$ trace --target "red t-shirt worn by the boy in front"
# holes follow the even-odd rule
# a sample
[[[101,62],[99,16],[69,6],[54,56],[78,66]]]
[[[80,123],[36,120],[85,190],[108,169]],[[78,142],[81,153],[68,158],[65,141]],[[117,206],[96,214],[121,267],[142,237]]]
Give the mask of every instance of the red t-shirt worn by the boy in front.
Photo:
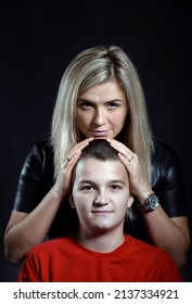
[[[18,274],[20,282],[178,282],[182,281],[172,258],[164,251],[125,236],[110,253],[59,238],[35,246]]]

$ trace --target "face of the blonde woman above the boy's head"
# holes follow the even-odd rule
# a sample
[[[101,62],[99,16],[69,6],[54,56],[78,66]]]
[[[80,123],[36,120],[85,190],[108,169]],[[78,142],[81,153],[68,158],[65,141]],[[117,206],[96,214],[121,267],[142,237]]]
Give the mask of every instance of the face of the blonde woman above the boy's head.
[[[77,125],[87,138],[115,138],[127,113],[126,94],[116,79],[92,87],[77,100]]]

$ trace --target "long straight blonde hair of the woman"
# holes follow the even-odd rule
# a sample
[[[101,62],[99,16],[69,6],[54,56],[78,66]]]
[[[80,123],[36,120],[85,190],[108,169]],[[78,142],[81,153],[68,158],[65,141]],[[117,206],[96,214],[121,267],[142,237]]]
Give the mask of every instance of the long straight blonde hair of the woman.
[[[76,124],[78,96],[91,87],[117,79],[125,90],[129,114],[121,130],[121,142],[138,154],[144,177],[151,183],[151,155],[154,149],[143,90],[128,55],[118,47],[93,47],[80,52],[65,69],[52,117],[51,143],[54,176],[61,162],[82,135]]]

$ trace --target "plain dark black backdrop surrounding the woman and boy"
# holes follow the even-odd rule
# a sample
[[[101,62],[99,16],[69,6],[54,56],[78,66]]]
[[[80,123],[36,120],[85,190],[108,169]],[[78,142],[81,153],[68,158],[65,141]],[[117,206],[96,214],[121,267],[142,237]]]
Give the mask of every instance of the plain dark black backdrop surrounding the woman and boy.
[[[31,145],[49,136],[65,67],[79,51],[95,45],[116,43],[133,61],[153,131],[180,159],[192,231],[190,2],[0,2],[0,281],[15,281],[20,269],[3,257],[3,232],[22,165]],[[190,251],[181,268],[184,281],[192,281],[191,269]]]

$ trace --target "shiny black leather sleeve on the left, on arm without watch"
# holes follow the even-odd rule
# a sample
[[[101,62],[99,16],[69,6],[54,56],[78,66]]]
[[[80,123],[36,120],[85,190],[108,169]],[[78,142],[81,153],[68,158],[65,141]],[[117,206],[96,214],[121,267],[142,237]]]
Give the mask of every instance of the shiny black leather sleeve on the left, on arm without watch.
[[[14,210],[29,213],[53,185],[53,156],[47,141],[36,143],[29,152],[17,185]]]

